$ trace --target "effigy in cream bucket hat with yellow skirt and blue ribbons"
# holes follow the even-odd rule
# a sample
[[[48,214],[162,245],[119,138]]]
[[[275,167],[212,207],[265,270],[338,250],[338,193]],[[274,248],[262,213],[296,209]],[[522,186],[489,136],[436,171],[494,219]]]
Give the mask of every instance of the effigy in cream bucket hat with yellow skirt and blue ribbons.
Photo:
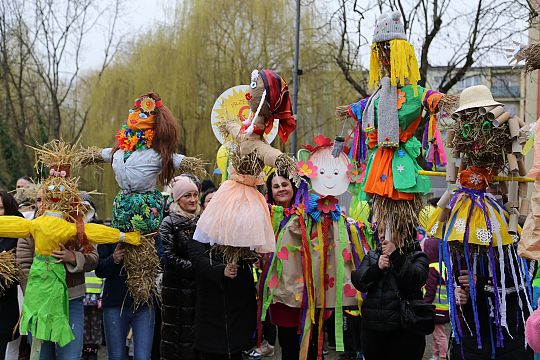
[[[523,183],[525,188],[518,196],[518,182],[508,182],[506,207],[489,189],[493,188],[493,178],[499,172],[507,173],[512,180],[512,177],[518,177],[519,168],[523,167],[518,165],[523,161],[521,147],[516,146],[516,142],[519,142],[519,121],[505,112],[502,104],[493,100],[490,90],[484,85],[463,90],[460,106],[452,117],[454,123],[449,130],[452,140],[448,145],[460,169],[458,188],[447,190],[441,197],[428,231],[431,236],[442,239],[440,258],[444,260],[449,274],[458,274],[466,268],[469,283],[474,284],[475,275],[480,271],[478,268],[487,261],[494,289],[489,315],[495,324],[493,338],[496,347],[503,347],[503,331],[508,331],[506,290],[509,286],[527,289],[530,282],[526,266],[516,254],[519,239],[518,200],[527,196],[526,183]],[[447,167],[447,180],[451,185],[456,180],[455,174],[455,165],[451,162]],[[453,334],[459,342],[462,332],[467,330],[459,324],[459,311],[454,299],[456,286],[455,279],[447,282]],[[525,291],[525,299],[519,297],[522,311],[525,307],[531,311],[529,295]],[[477,345],[481,348],[475,286],[470,287],[470,299]]]

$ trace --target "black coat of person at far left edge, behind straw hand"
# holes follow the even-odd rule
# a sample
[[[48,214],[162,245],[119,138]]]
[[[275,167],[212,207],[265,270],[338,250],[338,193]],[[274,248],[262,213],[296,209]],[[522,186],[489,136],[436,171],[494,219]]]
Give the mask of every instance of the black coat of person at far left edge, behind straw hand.
[[[17,248],[17,239],[0,238],[0,252]],[[19,321],[19,303],[17,301],[17,284],[10,286],[0,296],[0,335],[13,335],[13,329]],[[18,331],[15,332],[15,338]]]

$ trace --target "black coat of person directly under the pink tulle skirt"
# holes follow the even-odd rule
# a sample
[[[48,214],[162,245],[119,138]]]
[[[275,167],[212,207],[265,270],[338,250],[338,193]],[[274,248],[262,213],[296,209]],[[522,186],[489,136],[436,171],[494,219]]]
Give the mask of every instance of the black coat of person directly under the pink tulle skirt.
[[[257,301],[251,264],[240,261],[237,276],[225,277],[223,259],[210,257],[210,245],[192,240],[189,257],[197,281],[195,348],[230,355],[255,345]]]

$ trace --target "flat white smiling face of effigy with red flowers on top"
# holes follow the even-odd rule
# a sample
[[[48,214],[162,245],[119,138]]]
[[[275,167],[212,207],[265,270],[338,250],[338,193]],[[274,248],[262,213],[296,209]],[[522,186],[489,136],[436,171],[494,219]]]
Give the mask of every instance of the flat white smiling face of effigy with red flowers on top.
[[[316,176],[311,178],[313,191],[321,196],[338,196],[347,191],[349,158],[345,153],[335,158],[332,156],[332,147],[327,146],[315,151],[309,161],[317,167]]]

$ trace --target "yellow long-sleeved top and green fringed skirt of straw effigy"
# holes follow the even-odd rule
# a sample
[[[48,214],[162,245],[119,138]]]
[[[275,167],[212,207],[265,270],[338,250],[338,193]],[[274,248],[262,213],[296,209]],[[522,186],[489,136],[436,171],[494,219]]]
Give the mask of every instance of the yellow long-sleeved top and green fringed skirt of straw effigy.
[[[94,244],[126,242],[139,245],[139,233],[122,233],[104,225],[85,224],[88,241]],[[26,286],[21,318],[21,333],[65,346],[74,339],[69,325],[66,270],[52,257],[77,236],[77,225],[65,220],[61,212],[47,211],[43,216],[27,220],[18,216],[0,216],[0,237],[32,236],[35,255]]]

